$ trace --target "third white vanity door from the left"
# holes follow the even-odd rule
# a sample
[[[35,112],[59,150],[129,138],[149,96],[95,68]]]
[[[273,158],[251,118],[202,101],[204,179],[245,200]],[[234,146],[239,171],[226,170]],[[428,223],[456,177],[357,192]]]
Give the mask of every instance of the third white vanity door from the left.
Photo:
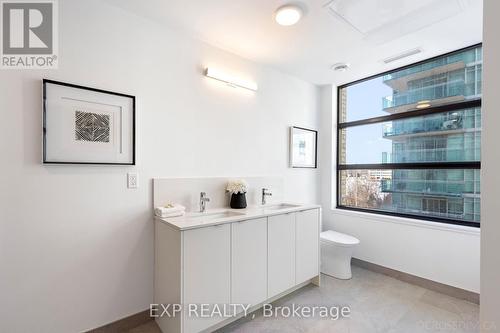
[[[268,232],[268,297],[295,285],[295,214],[270,216]]]

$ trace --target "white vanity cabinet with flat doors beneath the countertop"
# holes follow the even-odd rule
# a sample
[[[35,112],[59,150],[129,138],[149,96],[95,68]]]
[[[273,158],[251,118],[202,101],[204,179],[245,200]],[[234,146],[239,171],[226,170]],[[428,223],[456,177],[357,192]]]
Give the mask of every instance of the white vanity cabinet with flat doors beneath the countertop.
[[[183,309],[175,317],[156,318],[162,332],[210,332],[239,318],[238,313],[190,316],[190,304],[198,310],[201,304],[228,309],[245,304],[255,310],[310,282],[319,284],[321,214],[313,207],[269,214],[261,209],[245,219],[185,229],[157,218],[154,303]],[[162,309],[158,306],[156,314]]]

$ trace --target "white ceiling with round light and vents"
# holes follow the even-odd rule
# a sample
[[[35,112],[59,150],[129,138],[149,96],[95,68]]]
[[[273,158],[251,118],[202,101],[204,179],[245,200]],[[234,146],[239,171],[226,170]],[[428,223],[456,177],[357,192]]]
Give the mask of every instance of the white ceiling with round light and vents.
[[[347,83],[482,41],[482,0],[423,0],[420,7],[415,0],[105,1],[319,85]],[[279,26],[274,11],[290,2],[306,14],[294,26]],[[376,29],[370,34],[366,27]],[[423,52],[382,62],[415,48]],[[351,69],[332,71],[338,62]]]

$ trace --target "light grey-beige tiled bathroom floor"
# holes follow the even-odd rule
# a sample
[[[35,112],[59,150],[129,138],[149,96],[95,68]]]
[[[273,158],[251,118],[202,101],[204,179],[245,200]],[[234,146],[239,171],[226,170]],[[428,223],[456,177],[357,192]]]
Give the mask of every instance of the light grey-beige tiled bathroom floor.
[[[479,306],[399,280],[353,267],[343,281],[323,275],[321,287],[307,286],[279,300],[280,305],[349,306],[350,318],[240,319],[220,332],[419,333],[479,332]],[[160,333],[154,322],[130,333]]]

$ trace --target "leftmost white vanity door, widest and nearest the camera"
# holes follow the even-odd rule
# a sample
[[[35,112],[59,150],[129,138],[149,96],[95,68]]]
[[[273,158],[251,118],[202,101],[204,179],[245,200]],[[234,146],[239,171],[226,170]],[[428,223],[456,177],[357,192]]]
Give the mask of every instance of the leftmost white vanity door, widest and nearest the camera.
[[[183,303],[210,304],[222,308],[230,303],[231,229],[229,224],[183,232]],[[195,312],[193,312],[194,314]],[[224,320],[200,318],[184,311],[184,332],[199,332]]]

